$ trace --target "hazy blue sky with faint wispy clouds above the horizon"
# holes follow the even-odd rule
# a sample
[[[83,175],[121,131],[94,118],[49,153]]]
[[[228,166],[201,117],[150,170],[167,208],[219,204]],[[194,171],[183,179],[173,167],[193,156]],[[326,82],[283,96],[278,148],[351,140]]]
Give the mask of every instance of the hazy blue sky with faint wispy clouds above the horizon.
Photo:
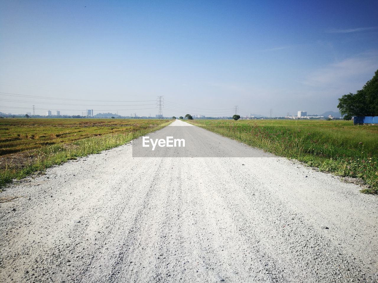
[[[322,114],[378,69],[371,0],[0,3],[2,112]]]

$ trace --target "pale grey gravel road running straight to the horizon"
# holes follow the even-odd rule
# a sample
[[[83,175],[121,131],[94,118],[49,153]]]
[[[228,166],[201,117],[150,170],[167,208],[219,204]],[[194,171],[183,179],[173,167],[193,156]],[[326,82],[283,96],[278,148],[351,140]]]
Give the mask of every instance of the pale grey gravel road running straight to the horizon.
[[[377,282],[375,195],[179,120],[167,137],[185,146],[141,137],[6,188],[0,281]]]

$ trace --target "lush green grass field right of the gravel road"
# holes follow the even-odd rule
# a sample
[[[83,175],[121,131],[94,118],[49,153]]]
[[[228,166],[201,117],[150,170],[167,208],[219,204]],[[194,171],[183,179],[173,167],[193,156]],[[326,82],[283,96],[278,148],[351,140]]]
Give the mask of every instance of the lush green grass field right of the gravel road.
[[[361,178],[378,193],[378,126],[344,120],[187,121],[247,145],[297,159],[335,175]]]

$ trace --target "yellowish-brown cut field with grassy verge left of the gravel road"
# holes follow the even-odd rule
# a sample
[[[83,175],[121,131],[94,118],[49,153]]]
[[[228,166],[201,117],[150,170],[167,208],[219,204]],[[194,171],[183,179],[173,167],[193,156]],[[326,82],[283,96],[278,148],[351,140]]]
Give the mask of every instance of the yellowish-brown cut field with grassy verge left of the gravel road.
[[[1,119],[0,189],[15,178],[123,145],[171,122],[157,119]]]

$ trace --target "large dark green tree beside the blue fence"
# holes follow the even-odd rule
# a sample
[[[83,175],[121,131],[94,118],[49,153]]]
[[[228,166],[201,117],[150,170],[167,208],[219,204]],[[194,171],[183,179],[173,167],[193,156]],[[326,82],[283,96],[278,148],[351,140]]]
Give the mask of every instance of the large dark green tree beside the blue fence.
[[[378,70],[362,89],[339,98],[337,107],[346,120],[352,116],[378,116]]]

